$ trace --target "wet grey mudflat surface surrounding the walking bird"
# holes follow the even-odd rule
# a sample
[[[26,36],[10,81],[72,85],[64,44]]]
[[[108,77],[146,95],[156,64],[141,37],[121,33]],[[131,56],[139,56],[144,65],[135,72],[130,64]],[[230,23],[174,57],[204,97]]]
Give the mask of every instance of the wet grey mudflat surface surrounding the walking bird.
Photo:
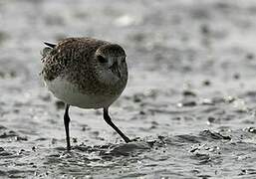
[[[39,77],[43,41],[121,44],[128,87],[102,110],[63,105]],[[256,2],[0,1],[0,178],[255,178]]]

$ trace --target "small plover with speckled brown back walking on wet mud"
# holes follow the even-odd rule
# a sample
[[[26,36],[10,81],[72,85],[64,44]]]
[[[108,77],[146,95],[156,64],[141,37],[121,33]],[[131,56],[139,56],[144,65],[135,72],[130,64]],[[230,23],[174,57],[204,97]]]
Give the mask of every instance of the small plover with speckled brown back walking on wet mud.
[[[67,38],[57,44],[44,43],[42,77],[49,90],[64,101],[67,149],[70,105],[103,108],[105,121],[126,142],[129,138],[112,122],[110,105],[121,95],[128,82],[126,52],[118,44],[92,38]]]

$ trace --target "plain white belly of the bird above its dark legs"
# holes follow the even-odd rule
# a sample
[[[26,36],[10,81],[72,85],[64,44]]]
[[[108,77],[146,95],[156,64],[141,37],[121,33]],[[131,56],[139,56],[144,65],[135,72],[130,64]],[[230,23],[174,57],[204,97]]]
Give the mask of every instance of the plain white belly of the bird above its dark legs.
[[[64,79],[45,81],[46,86],[62,101],[81,108],[102,108],[110,106],[119,96],[105,96],[81,93],[77,87]]]

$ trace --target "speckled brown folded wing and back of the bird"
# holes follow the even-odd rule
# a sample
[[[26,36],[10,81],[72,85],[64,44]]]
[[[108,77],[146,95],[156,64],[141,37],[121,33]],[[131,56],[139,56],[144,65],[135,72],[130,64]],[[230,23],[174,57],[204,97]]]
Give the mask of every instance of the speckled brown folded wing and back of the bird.
[[[86,65],[99,47],[108,44],[92,38],[67,38],[57,45],[45,43],[42,74],[47,80],[54,80],[69,68]],[[49,48],[50,47],[50,48]],[[51,49],[52,48],[52,49]],[[43,51],[44,51],[43,50]]]

